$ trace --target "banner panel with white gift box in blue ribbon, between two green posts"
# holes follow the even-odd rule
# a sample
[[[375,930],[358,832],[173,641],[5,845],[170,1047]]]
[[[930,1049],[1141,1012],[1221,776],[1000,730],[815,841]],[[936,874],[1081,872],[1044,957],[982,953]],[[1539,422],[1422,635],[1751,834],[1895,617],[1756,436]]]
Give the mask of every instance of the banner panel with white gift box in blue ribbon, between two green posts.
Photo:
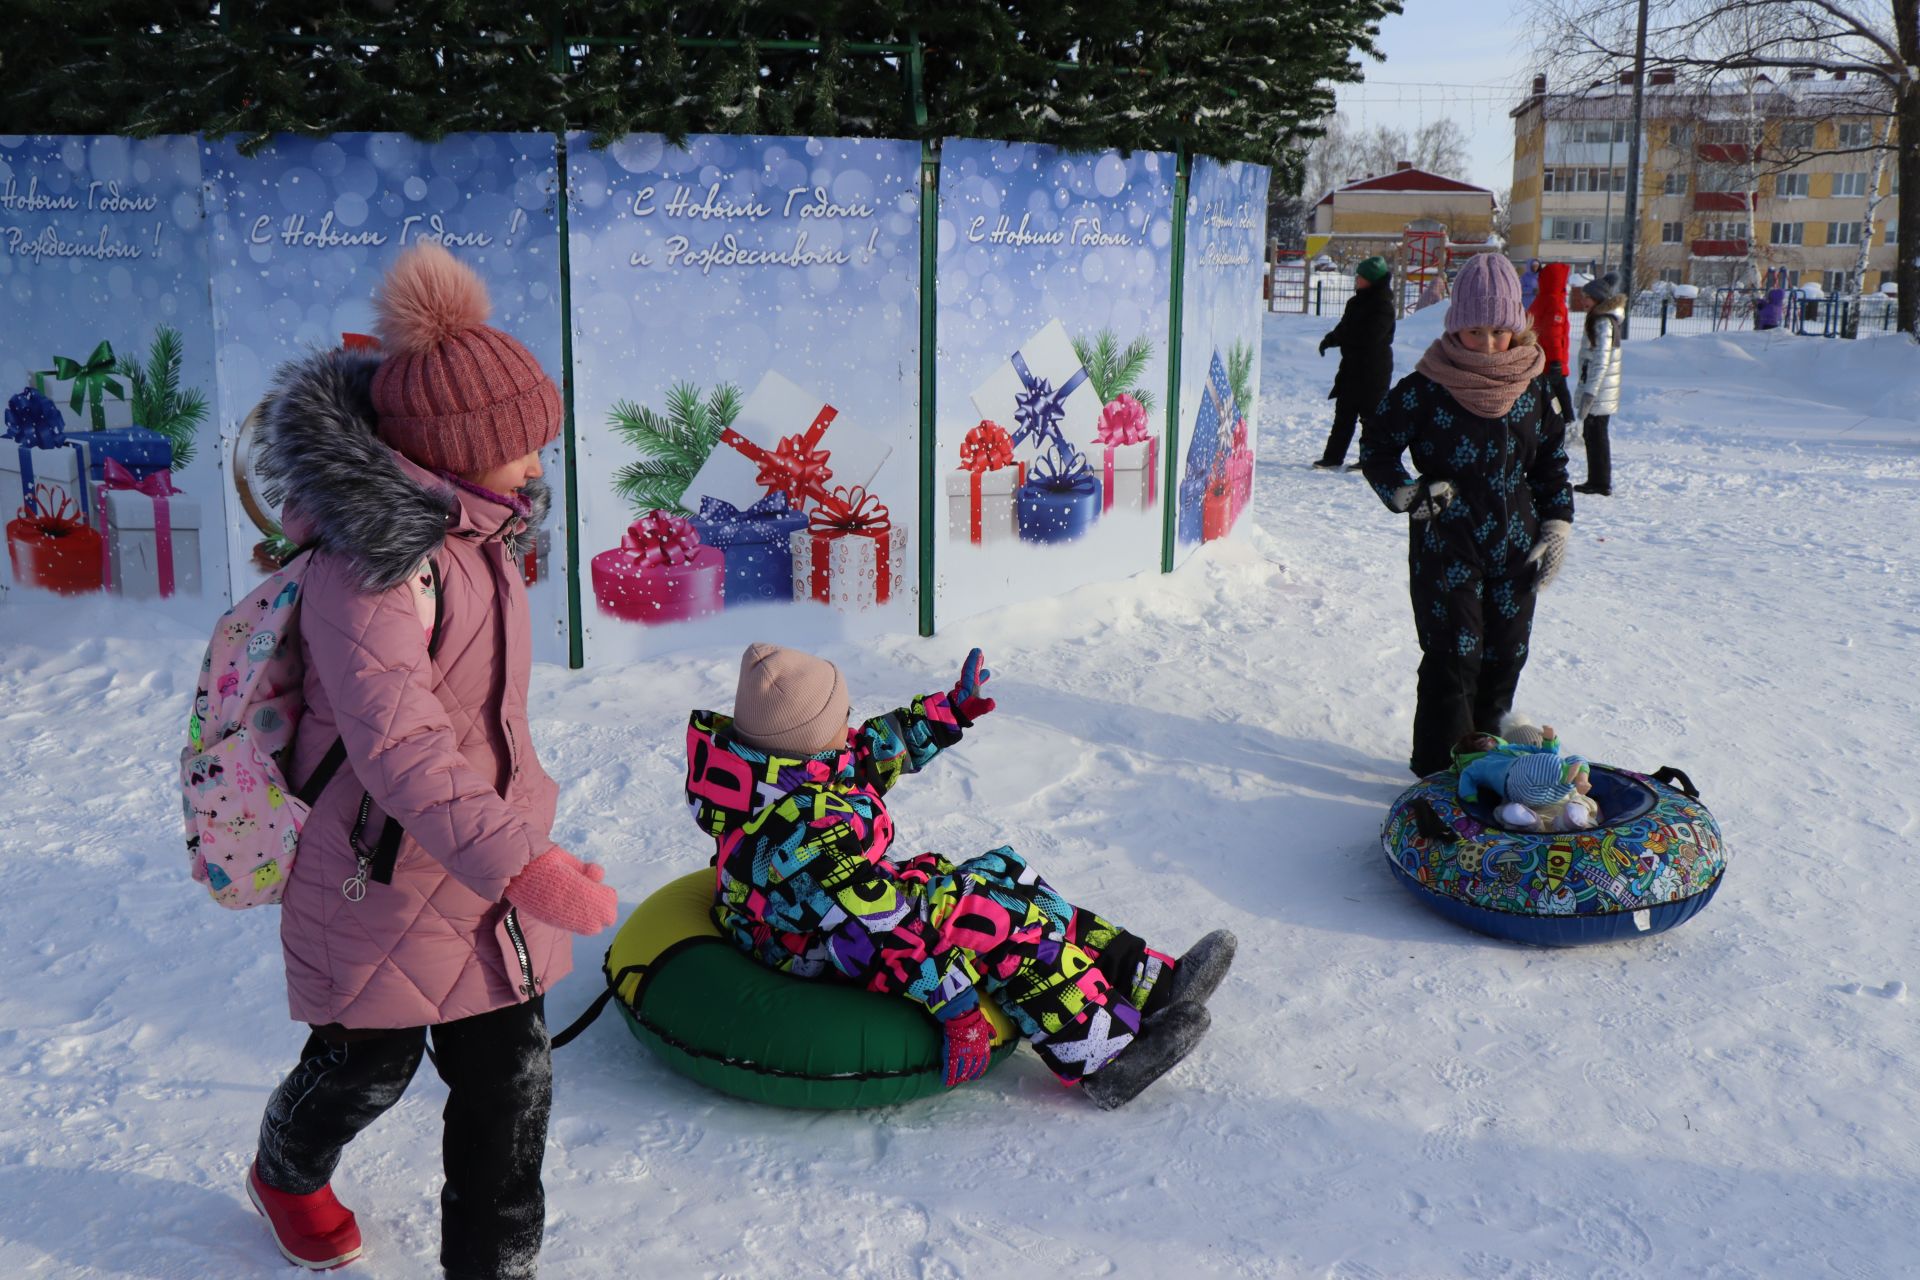
[[[1158,568],[1173,169],[943,146],[941,620]]]

